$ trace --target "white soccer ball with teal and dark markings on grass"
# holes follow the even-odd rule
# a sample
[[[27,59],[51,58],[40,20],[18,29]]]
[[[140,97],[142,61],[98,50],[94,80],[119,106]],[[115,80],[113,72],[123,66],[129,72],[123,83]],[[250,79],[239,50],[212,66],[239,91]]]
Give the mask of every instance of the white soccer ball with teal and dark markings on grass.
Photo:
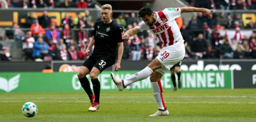
[[[33,102],[26,102],[22,106],[22,113],[26,117],[36,116],[37,111],[38,111],[38,108],[37,108],[36,104],[34,104]]]

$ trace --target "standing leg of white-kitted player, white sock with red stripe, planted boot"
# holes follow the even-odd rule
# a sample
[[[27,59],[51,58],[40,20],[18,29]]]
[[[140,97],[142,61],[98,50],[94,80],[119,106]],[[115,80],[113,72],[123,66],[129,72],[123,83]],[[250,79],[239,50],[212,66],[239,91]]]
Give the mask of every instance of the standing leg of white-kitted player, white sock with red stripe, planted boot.
[[[156,104],[158,106],[158,111],[150,116],[164,116],[168,115],[169,112],[167,110],[167,107],[164,104],[164,99],[163,99],[163,89],[161,85],[160,79],[162,78],[162,74],[159,73],[158,71],[154,71],[152,75],[150,75],[150,81],[152,85],[152,90],[154,93],[154,97],[156,99]]]

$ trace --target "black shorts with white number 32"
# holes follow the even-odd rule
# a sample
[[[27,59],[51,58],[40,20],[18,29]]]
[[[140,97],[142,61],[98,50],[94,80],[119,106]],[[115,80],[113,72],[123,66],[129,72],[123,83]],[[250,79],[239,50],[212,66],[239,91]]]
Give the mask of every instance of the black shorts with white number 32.
[[[115,64],[116,59],[110,58],[110,57],[94,57],[90,56],[86,61],[84,61],[83,65],[84,67],[87,67],[89,71],[92,70],[92,67],[96,67],[98,70],[100,70],[100,73]]]

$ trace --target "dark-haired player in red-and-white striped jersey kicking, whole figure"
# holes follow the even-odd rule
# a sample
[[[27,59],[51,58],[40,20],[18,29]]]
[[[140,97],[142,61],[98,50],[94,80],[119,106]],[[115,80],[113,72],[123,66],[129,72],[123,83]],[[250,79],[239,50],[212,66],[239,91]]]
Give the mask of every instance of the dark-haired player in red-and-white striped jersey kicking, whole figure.
[[[164,104],[160,79],[173,65],[184,58],[184,40],[175,19],[181,13],[187,12],[202,12],[204,16],[212,17],[212,10],[205,8],[165,8],[162,11],[153,12],[150,7],[143,7],[139,11],[139,17],[143,21],[135,28],[126,31],[123,35],[124,40],[128,40],[130,36],[140,31],[149,30],[163,42],[163,48],[160,50],[159,55],[142,71],[134,73],[123,80],[116,77],[114,73],[111,73],[112,79],[119,91],[124,90],[125,87],[134,82],[141,81],[150,76],[152,90],[158,106],[158,111],[150,116],[169,114]]]

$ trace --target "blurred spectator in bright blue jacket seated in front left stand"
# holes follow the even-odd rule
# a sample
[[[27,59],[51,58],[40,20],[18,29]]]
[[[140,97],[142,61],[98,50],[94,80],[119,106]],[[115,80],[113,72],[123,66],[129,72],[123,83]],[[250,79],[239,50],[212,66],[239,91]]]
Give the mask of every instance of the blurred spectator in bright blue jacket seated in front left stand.
[[[35,59],[44,59],[44,56],[48,56],[48,49],[49,46],[47,43],[42,38],[38,38],[38,41],[34,43],[32,57]]]

